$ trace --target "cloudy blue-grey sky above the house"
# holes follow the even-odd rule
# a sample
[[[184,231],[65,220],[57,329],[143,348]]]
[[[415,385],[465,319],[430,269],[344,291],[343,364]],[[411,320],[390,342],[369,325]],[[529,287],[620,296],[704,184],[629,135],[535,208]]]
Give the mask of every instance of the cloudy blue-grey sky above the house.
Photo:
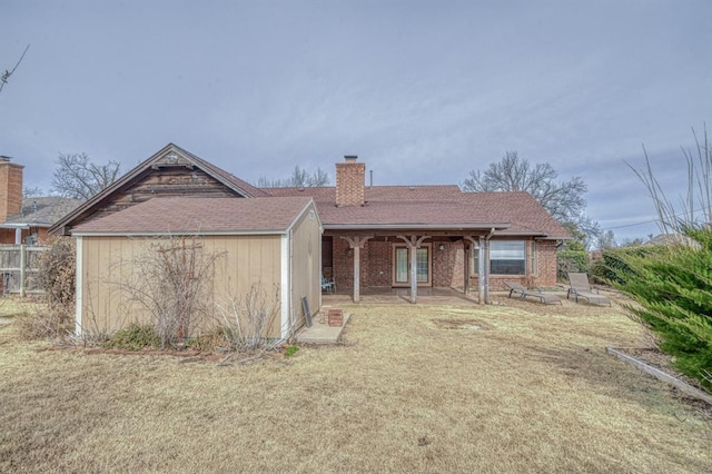
[[[712,120],[712,1],[0,0],[0,155],[122,170],[168,142],[256,184],[357,155],[375,185],[462,184],[506,151],[583,178],[619,241],[657,234]],[[710,124],[712,128],[712,124]],[[712,132],[712,130],[711,130]],[[367,171],[368,172],[368,171]]]

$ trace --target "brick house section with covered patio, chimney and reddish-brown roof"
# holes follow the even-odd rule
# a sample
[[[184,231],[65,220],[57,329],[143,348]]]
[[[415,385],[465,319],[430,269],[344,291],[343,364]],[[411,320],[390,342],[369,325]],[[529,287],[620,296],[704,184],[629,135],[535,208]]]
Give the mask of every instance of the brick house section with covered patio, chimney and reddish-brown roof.
[[[567,231],[527,192],[463,192],[458,186],[366,186],[365,164],[336,164],[336,186],[271,188],[312,196],[324,225],[323,267],[337,288],[477,288],[504,280],[556,284],[556,246]]]

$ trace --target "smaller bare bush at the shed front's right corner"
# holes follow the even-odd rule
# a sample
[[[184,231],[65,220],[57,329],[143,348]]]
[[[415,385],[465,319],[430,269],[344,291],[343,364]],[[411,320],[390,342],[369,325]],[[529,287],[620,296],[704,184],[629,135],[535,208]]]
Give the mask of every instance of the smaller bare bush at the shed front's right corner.
[[[278,285],[268,292],[261,284],[255,284],[245,295],[230,295],[225,304],[217,307],[225,323],[226,339],[236,353],[259,355],[276,349],[283,343],[279,337],[268,337],[279,315]]]

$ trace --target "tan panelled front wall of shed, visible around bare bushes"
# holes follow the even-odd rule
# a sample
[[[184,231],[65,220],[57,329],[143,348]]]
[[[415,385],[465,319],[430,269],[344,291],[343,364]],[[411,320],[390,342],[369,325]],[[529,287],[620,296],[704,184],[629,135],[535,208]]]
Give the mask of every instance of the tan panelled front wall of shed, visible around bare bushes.
[[[253,284],[268,293],[281,284],[280,235],[205,236],[201,241],[206,253],[222,254],[215,266],[212,303],[224,304],[230,295],[240,297]],[[82,330],[110,333],[130,323],[149,322],[149,316],[121,289],[132,271],[131,261],[144,245],[145,239],[121,236],[81,238]],[[216,310],[210,319],[217,325],[221,318]],[[270,336],[279,335],[279,326],[277,316]]]

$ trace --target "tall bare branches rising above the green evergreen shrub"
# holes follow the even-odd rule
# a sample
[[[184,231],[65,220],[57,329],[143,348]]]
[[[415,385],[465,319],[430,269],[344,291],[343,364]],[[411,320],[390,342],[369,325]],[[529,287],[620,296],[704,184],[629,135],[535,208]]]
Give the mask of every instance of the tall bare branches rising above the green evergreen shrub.
[[[625,162],[640,178],[653,199],[657,211],[657,226],[662,234],[678,235],[682,234],[686,227],[712,225],[712,145],[708,139],[706,124],[703,126],[702,138],[698,137],[694,128],[692,136],[695,144],[694,150],[682,147],[682,156],[688,169],[688,189],[683,196],[680,196],[678,205],[670,200],[657,180],[645,146],[643,146],[644,168],[636,169],[630,162]],[[670,166],[671,162],[666,161],[665,165]]]

